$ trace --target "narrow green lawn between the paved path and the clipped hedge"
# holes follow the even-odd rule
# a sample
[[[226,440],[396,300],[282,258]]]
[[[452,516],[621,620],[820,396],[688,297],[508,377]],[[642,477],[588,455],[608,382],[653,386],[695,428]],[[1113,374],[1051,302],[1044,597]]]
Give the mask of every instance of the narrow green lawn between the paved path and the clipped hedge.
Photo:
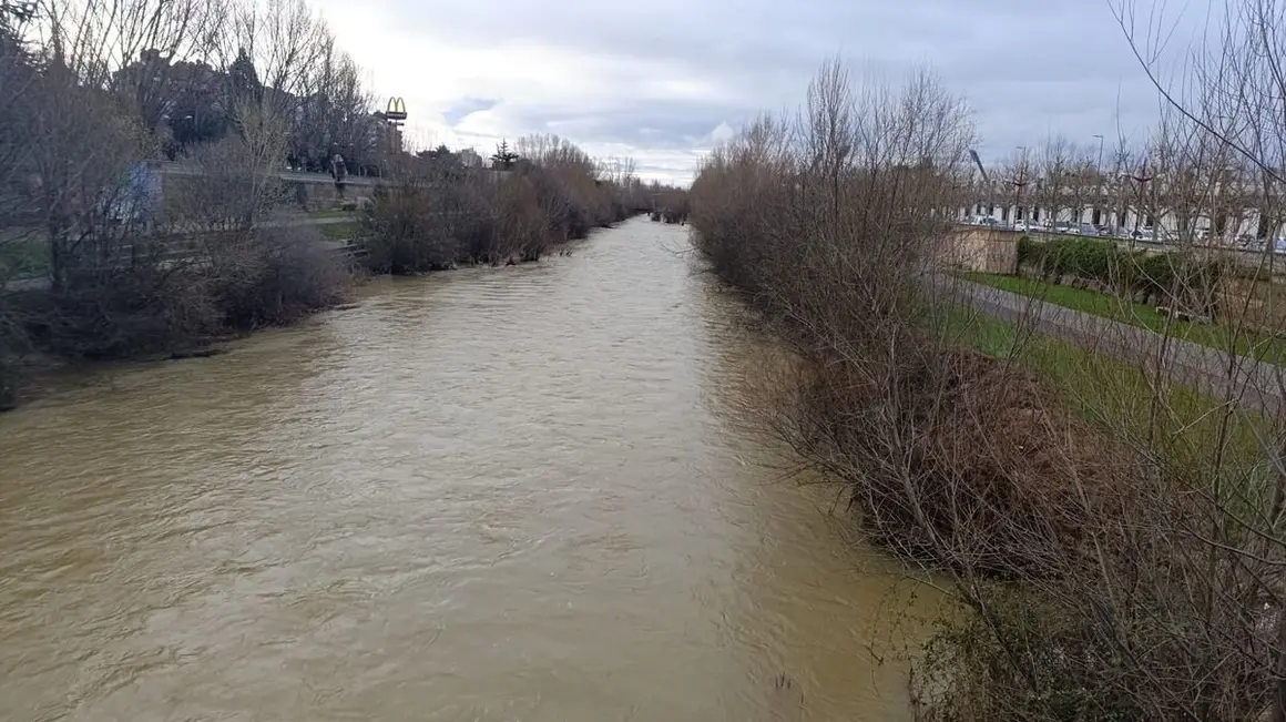
[[[1237,354],[1273,364],[1286,364],[1286,340],[1268,335],[1251,335],[1245,331],[1233,333],[1231,328],[1218,324],[1187,323],[1172,320],[1154,306],[1134,304],[1125,299],[1100,293],[1088,288],[1073,288],[1057,283],[1047,283],[1034,278],[1002,275],[993,273],[967,273],[963,277],[975,283],[1040,299],[1048,304],[1066,306],[1078,311],[1110,318],[1147,328],[1157,333],[1168,333],[1175,338],[1201,344],[1211,349],[1235,350]]]

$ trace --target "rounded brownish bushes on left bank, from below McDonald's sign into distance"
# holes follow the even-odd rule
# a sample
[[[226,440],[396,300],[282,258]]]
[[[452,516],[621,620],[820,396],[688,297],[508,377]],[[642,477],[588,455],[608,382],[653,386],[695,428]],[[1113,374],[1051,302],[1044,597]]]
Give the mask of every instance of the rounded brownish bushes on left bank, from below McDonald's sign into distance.
[[[495,170],[462,166],[449,153],[400,165],[363,216],[368,268],[412,274],[534,261],[649,207],[631,161],[598,162],[556,135],[522,138],[514,151],[504,144],[494,158]]]

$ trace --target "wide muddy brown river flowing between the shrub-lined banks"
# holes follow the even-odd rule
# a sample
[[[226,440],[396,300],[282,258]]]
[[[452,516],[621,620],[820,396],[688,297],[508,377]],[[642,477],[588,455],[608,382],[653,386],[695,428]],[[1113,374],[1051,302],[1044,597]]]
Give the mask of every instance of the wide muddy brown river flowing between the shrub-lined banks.
[[[763,341],[685,247],[379,281],[0,417],[0,719],[795,718],[778,674],[907,718],[868,650],[932,605],[760,463]]]

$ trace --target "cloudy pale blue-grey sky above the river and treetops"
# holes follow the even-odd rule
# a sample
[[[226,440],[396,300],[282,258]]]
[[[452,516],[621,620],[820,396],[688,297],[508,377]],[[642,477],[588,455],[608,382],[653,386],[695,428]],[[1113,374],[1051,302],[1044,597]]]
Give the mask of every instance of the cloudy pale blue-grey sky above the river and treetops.
[[[760,111],[796,107],[818,64],[930,64],[976,113],[985,160],[1049,134],[1137,134],[1156,93],[1107,0],[314,0],[408,140],[477,147],[556,133],[687,183]]]

